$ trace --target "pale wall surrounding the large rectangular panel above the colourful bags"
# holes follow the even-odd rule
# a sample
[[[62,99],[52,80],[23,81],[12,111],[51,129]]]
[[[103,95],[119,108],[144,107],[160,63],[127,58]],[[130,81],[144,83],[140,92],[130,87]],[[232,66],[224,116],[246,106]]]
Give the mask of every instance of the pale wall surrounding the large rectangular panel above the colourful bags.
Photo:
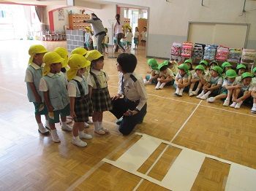
[[[256,49],[256,1],[246,1],[246,16],[242,15],[244,0],[108,0],[114,4],[149,8],[147,56],[169,58],[173,42],[187,40],[188,23],[249,23],[247,48]],[[248,12],[247,12],[248,10]],[[242,15],[242,16],[241,16]]]

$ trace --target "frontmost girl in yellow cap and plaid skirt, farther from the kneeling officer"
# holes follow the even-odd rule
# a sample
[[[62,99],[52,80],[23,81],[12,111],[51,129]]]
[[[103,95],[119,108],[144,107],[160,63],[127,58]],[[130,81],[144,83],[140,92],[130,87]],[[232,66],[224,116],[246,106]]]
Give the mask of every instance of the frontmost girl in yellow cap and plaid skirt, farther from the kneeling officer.
[[[86,72],[86,66],[91,63],[86,61],[83,55],[73,54],[70,56],[68,65],[70,67],[67,71],[67,79],[69,84],[67,90],[70,100],[70,114],[75,120],[73,126],[73,140],[72,144],[78,147],[86,147],[86,142],[80,139],[91,139],[92,136],[83,132],[83,126],[92,115],[92,103],[89,98],[89,87],[86,77],[83,74]]]

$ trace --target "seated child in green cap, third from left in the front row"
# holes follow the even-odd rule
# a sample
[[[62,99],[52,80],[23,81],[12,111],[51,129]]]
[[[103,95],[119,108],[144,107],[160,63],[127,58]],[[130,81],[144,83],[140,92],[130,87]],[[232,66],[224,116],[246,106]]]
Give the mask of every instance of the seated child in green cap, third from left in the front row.
[[[186,63],[181,63],[181,65],[178,66],[178,74],[175,77],[175,82],[173,85],[176,88],[174,95],[181,97],[184,89],[188,89],[189,85],[189,66],[187,66]]]

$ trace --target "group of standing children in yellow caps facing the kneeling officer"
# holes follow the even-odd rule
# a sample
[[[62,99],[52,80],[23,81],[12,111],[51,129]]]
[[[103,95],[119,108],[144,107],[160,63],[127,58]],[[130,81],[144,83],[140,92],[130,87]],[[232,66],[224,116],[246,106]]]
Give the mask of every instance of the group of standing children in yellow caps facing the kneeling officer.
[[[34,104],[39,133],[43,135],[51,133],[53,141],[59,142],[60,139],[55,127],[55,123],[59,122],[59,115],[61,116],[61,129],[73,132],[72,144],[78,147],[86,147],[87,145],[80,139],[92,138],[91,135],[83,132],[89,116],[93,117],[96,133],[101,135],[108,133],[108,129],[102,127],[102,112],[97,112],[99,109],[99,107],[95,108],[97,103],[92,98],[94,102],[91,104],[91,98],[89,98],[91,92],[94,93],[95,83],[97,84],[97,77],[94,78],[92,70],[94,69],[100,75],[105,76],[105,74],[101,74],[104,60],[102,54],[97,50],[87,52],[80,47],[73,50],[72,56],[68,58],[67,50],[63,47],[48,52],[45,47],[36,44],[29,48],[29,55],[31,57],[26,69],[25,82],[29,101]],[[88,77],[90,80],[87,82],[84,74],[86,74],[86,67],[90,64],[91,72]],[[107,79],[104,78],[104,80]],[[106,84],[106,82],[104,83]],[[107,97],[110,98],[109,95]],[[97,98],[100,99],[99,96]],[[108,108],[105,109],[109,110],[111,106],[108,104]],[[94,112],[92,113],[92,111]],[[69,114],[75,120],[73,128],[67,125],[66,120]],[[45,115],[45,127],[42,125],[41,115]]]

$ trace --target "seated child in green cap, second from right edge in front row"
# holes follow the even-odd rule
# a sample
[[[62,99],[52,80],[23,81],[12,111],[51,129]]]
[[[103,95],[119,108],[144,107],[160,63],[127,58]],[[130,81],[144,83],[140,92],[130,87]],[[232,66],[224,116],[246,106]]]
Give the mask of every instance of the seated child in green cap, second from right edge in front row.
[[[252,82],[251,73],[245,72],[244,74],[241,75],[241,80],[238,81],[238,84],[241,85],[241,88],[233,90],[233,95],[232,95],[233,104],[231,104],[230,107],[239,109],[241,104],[243,104],[243,101],[245,101],[246,98],[249,98],[251,96],[251,92],[249,91],[251,82]]]

